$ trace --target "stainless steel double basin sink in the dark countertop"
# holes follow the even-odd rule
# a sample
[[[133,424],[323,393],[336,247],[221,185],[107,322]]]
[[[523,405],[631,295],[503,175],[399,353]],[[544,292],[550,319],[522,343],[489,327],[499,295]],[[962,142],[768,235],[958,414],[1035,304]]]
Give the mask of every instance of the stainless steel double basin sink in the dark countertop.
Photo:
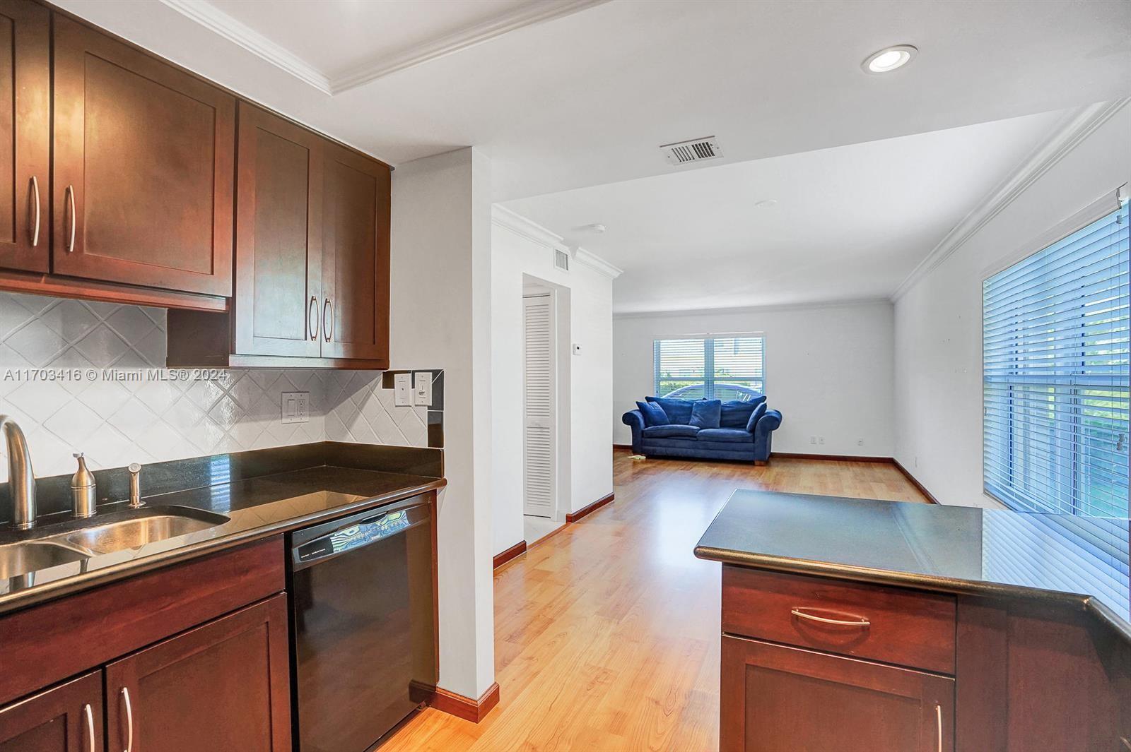
[[[228,517],[202,509],[157,506],[49,525],[32,532],[32,537],[0,544],[0,579],[136,549],[226,522]]]

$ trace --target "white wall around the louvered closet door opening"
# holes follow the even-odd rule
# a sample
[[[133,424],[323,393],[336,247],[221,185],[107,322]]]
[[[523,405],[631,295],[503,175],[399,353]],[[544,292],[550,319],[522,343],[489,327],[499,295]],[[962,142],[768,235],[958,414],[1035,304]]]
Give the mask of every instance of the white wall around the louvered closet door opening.
[[[559,365],[568,388],[559,395],[566,452],[559,463],[560,517],[613,492],[608,445],[612,379],[612,278],[573,259],[553,265],[561,238],[497,208],[492,235],[492,504],[493,548],[523,540],[523,285],[535,278],[558,290]],[[571,355],[571,343],[581,346]],[[561,370],[559,371],[561,373]]]

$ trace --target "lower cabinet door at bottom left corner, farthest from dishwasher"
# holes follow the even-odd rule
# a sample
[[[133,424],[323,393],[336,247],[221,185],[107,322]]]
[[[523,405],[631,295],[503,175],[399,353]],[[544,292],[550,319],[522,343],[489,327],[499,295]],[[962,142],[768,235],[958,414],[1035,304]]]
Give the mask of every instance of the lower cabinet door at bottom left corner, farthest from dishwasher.
[[[0,708],[0,752],[97,752],[102,740],[101,671]]]

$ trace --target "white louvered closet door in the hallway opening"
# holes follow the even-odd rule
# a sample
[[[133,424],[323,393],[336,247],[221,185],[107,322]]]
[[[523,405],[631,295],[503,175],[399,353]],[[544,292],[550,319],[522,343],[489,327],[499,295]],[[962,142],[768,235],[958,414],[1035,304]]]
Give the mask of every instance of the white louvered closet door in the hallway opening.
[[[524,514],[553,517],[556,385],[554,383],[553,299],[523,298],[526,366],[523,373]]]

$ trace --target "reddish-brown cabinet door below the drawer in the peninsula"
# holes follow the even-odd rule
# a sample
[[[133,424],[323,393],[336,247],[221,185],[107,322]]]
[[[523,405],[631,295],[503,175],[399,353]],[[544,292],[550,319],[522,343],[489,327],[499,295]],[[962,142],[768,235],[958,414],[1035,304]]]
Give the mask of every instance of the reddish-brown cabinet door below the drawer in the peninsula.
[[[946,676],[723,637],[724,752],[951,752],[953,707]]]

